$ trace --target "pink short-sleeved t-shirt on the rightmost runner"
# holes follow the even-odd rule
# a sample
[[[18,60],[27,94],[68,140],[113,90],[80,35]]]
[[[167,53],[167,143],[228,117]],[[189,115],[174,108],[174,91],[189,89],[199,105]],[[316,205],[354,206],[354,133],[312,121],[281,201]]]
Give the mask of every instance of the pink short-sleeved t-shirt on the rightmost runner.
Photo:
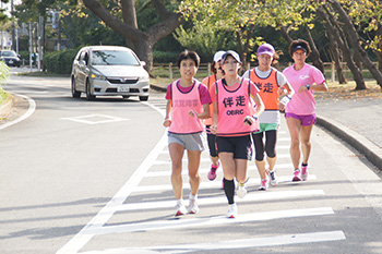
[[[291,87],[295,89],[295,95],[285,108],[285,112],[306,116],[315,113],[315,100],[313,90],[305,90],[298,93],[300,86],[322,84],[325,81],[322,72],[315,66],[305,63],[299,71],[295,70],[295,64],[286,68],[283,71]]]

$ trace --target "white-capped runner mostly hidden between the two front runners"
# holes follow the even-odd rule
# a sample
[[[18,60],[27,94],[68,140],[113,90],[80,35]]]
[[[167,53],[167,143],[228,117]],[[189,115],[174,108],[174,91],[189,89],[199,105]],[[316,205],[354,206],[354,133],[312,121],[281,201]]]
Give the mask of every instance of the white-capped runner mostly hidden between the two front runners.
[[[219,50],[214,55],[214,62],[211,65],[211,72],[213,75],[205,77],[202,83],[208,88],[212,84],[214,84],[216,81],[223,78],[224,71],[222,69],[222,57],[225,55],[226,51]],[[214,111],[214,105],[210,105],[210,114],[212,116]],[[216,179],[216,170],[219,167],[219,157],[217,156],[216,150],[216,135],[211,133],[210,126],[213,124],[212,117],[204,120],[205,124],[205,131],[207,133],[207,143],[208,143],[208,149],[210,149],[210,158],[211,158],[211,169],[207,174],[207,178],[210,181],[214,181]]]

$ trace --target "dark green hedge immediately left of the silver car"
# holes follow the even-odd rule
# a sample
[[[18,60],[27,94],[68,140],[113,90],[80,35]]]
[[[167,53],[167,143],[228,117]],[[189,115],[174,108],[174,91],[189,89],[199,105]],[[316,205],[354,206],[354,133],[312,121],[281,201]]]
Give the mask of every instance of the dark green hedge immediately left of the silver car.
[[[48,72],[58,74],[70,74],[72,71],[73,60],[77,53],[77,49],[64,49],[47,53],[44,58],[44,66]]]

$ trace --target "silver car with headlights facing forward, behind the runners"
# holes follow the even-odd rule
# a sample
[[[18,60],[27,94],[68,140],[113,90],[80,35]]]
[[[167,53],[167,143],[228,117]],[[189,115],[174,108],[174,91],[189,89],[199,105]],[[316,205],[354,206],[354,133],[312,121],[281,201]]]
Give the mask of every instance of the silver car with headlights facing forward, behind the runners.
[[[129,48],[120,46],[88,46],[80,49],[72,66],[72,96],[139,96],[146,101],[150,77],[145,63]]]

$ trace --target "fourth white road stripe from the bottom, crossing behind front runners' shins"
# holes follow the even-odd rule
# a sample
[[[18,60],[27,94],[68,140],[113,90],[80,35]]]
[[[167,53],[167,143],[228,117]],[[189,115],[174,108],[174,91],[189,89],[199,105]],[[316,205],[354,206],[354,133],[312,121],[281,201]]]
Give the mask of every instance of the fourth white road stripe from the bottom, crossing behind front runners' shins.
[[[298,182],[291,181],[291,176],[287,177],[277,177],[278,185],[283,184],[299,184]],[[309,174],[309,181],[317,180],[315,174]],[[303,182],[300,182],[303,183]],[[259,184],[260,185],[260,178],[250,178],[248,180],[247,186],[251,188],[252,184]],[[208,181],[208,182],[201,182],[199,190],[205,190],[205,189],[217,189],[222,188],[222,181],[215,180],[215,181]],[[183,182],[183,190],[190,190],[190,183],[184,180]],[[134,189],[134,193],[136,192],[158,192],[158,191],[172,191],[171,184],[163,184],[163,185],[139,185]]]

